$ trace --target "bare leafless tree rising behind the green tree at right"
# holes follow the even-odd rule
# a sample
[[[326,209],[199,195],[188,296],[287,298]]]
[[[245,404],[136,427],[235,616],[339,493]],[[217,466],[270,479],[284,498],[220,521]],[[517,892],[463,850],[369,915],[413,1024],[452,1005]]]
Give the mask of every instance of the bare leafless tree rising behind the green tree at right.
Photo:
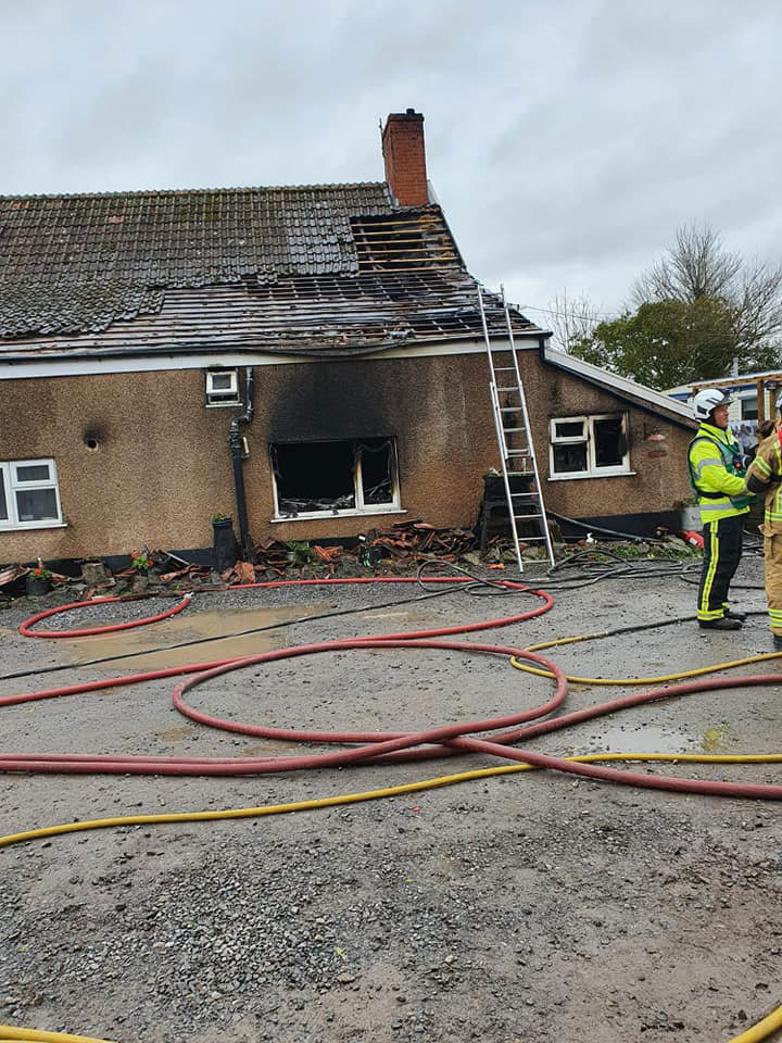
[[[741,253],[727,250],[708,226],[680,227],[676,243],[636,280],[632,298],[636,306],[658,301],[722,302],[732,316],[741,369],[780,365],[782,265],[745,262]]]

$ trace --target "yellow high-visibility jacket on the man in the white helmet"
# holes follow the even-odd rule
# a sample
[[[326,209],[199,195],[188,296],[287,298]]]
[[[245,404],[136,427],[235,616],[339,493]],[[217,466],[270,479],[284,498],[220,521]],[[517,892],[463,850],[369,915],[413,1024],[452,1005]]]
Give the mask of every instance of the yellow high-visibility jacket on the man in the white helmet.
[[[741,447],[730,431],[702,424],[690,443],[690,481],[697,495],[701,524],[748,514],[744,472],[740,466]]]

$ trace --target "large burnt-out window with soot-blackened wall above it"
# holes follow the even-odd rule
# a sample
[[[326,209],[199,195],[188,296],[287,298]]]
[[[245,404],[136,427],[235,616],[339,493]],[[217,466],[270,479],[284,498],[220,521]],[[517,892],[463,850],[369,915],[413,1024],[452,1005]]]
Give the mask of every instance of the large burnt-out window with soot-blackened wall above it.
[[[393,438],[272,445],[278,520],[399,511]]]

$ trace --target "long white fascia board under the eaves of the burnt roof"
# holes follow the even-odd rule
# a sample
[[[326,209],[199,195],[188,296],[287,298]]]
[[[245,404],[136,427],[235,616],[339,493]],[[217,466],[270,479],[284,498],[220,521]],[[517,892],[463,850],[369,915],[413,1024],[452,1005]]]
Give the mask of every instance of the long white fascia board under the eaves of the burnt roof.
[[[529,334],[516,334],[516,348],[519,350],[538,349],[541,337],[547,335],[535,330]],[[505,338],[492,338],[492,340]],[[283,355],[263,351],[242,352],[203,352],[187,354],[117,354],[74,357],[30,354],[28,357],[3,359],[0,353],[0,380],[27,380],[31,377],[77,377],[111,373],[159,373],[167,369],[209,369],[219,366],[224,369],[242,366],[290,366],[302,363],[325,362],[364,362],[382,359],[427,359],[438,355],[469,355],[485,353],[483,340],[444,340],[421,343],[409,348],[389,348],[367,354],[351,354],[344,357],[330,355]]]

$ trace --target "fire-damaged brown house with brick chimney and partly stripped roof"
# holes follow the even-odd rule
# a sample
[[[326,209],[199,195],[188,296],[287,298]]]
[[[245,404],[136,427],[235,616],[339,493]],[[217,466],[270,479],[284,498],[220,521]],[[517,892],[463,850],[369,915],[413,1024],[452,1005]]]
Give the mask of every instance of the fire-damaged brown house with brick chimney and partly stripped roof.
[[[374,184],[0,197],[0,562],[203,548],[216,514],[256,542],[476,524],[478,284],[424,117],[390,115],[382,151]],[[510,316],[546,506],[670,524],[686,409]]]

